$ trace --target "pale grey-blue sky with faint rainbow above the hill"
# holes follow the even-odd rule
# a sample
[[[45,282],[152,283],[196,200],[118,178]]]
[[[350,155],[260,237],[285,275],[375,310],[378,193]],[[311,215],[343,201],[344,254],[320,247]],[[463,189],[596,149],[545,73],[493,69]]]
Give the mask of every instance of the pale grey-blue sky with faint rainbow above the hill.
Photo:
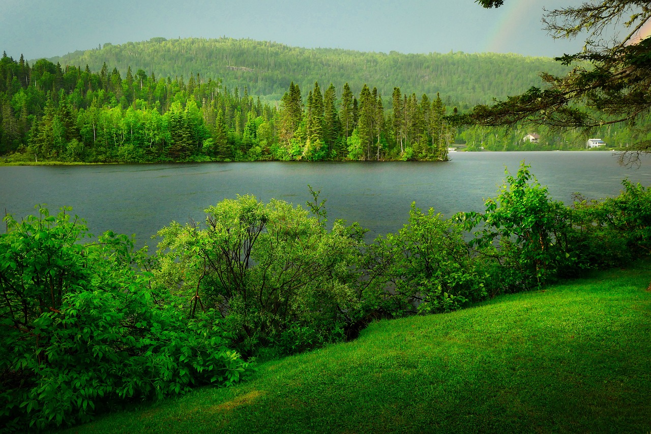
[[[305,48],[555,57],[583,40],[553,40],[543,7],[575,0],[0,0],[0,50],[40,59],[100,44],[165,38],[251,38]]]

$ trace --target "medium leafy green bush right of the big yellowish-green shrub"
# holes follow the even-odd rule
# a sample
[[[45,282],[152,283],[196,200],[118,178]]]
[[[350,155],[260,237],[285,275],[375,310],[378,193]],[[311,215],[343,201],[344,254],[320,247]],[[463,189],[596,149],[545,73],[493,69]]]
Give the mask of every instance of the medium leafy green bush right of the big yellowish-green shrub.
[[[412,203],[409,222],[396,235],[376,239],[369,254],[381,285],[383,310],[394,315],[456,310],[486,297],[480,273],[452,220]]]

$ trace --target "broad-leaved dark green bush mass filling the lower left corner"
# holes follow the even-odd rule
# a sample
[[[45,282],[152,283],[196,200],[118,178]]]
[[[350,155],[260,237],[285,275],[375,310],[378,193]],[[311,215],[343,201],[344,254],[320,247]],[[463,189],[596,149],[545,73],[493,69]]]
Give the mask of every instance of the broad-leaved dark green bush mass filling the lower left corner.
[[[208,318],[187,321],[139,272],[124,235],[48,210],[0,235],[0,423],[24,431],[88,420],[99,403],[236,383],[250,371]]]

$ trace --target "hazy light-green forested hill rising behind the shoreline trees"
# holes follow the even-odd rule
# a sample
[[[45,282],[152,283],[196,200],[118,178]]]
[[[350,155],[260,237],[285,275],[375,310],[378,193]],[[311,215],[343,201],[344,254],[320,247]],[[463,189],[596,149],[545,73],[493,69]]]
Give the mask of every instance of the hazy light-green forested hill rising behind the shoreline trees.
[[[186,80],[200,74],[223,80],[229,89],[247,86],[249,94],[264,100],[280,100],[292,81],[301,89],[310,89],[315,81],[326,87],[333,83],[338,89],[348,82],[353,93],[359,93],[365,83],[374,83],[385,96],[391,95],[394,86],[417,95],[439,92],[448,105],[460,108],[526,91],[540,83],[541,71],[566,72],[566,67],[545,57],[367,53],[232,38],[152,38],[147,42],[104,44],[101,49],[50,60],[81,68],[89,65],[90,70],[100,70],[104,63],[122,71],[131,66],[134,72],[143,69],[159,77],[184,76]]]

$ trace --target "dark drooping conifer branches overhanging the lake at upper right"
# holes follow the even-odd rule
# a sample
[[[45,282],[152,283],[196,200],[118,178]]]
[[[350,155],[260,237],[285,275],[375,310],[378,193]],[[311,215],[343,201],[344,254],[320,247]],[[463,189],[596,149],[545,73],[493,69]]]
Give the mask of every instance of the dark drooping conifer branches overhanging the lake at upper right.
[[[476,1],[484,8],[504,3]],[[644,121],[651,109],[651,38],[640,35],[650,19],[651,5],[638,0],[591,0],[547,11],[543,23],[553,38],[587,33],[583,51],[555,58],[573,69],[566,76],[542,73],[546,87],[531,87],[452,119],[485,126],[533,123],[586,132],[605,124],[634,126]],[[605,32],[622,22],[624,36],[616,34],[606,40]],[[651,152],[651,140],[639,140],[631,151]]]

